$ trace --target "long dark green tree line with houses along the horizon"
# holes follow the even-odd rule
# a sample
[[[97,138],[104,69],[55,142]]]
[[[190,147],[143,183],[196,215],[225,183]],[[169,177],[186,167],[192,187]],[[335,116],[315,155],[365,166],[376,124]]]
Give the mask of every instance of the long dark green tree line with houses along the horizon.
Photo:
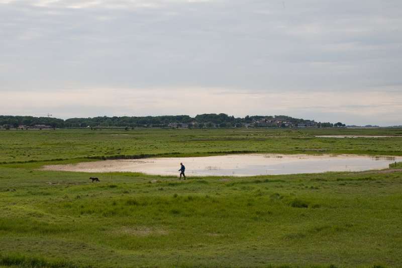
[[[79,128],[79,127],[333,127],[345,126],[338,122],[321,123],[314,120],[292,118],[289,116],[246,116],[244,118],[227,114],[201,114],[195,117],[188,115],[176,116],[121,116],[121,117],[92,117],[69,118],[66,120],[50,117],[32,116],[0,116],[0,126],[9,128],[34,127],[47,125],[52,128]]]

